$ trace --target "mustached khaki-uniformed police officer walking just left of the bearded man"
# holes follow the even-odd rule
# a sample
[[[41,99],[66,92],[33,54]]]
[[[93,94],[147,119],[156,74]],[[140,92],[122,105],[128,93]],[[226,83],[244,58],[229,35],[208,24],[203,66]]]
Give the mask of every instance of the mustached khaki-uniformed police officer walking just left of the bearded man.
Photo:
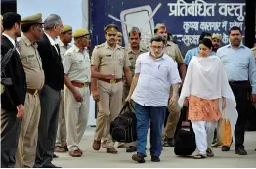
[[[119,114],[122,106],[123,79],[124,74],[127,83],[130,85],[132,76],[130,62],[125,49],[116,44],[118,28],[114,24],[107,25],[105,30],[106,42],[96,46],[92,54],[92,74],[112,74],[108,78],[92,78],[92,94],[95,101],[99,101],[96,131],[93,148],[101,148],[101,139],[107,153],[117,153],[114,142],[109,133],[110,122]]]

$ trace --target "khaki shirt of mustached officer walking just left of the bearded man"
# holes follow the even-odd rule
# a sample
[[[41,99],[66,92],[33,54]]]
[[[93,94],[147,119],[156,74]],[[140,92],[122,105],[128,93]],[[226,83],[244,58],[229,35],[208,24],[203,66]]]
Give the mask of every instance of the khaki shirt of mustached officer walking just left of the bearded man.
[[[100,73],[115,74],[115,78],[122,78],[123,68],[130,66],[128,55],[121,46],[112,51],[107,42],[95,47],[92,54],[92,65],[99,68]]]

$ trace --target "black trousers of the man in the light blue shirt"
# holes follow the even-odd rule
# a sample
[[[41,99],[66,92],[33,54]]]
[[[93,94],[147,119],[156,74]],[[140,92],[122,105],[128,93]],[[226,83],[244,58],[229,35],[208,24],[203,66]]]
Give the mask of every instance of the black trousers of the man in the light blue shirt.
[[[235,125],[235,149],[244,148],[245,126],[248,117],[248,82],[230,83],[235,95],[238,119]]]

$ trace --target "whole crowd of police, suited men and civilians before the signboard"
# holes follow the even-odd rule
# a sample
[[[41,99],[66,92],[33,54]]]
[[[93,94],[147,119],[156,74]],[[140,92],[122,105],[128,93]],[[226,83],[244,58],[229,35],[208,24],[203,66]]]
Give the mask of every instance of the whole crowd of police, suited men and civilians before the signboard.
[[[229,30],[230,44],[223,47],[220,35],[203,32],[198,47],[183,58],[162,23],[147,47],[140,44],[138,27],[129,30],[129,45],[123,47],[118,26],[109,24],[106,42],[89,56],[89,31],[72,30],[57,14],[42,21],[40,13],[21,18],[9,12],[1,21],[1,61],[11,54],[1,69],[1,167],[57,168],[55,152],[81,157],[90,95],[98,106],[94,150],[118,153],[110,123],[130,102],[137,141],[118,143],[117,148],[136,152],[132,159],[138,163],[147,157],[149,127],[152,162],[160,161],[162,147],[174,147],[183,106],[189,107],[195,133],[194,159],[214,156],[211,144],[223,111],[234,131],[235,153],[247,154],[248,97],[256,103],[256,43],[253,49],[244,46],[238,27]]]

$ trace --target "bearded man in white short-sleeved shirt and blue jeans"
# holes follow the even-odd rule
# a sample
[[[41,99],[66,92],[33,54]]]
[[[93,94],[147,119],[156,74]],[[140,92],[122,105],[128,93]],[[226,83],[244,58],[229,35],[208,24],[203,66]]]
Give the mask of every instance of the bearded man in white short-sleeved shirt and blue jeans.
[[[150,155],[152,162],[160,161],[161,133],[166,106],[177,104],[181,78],[177,63],[163,53],[165,39],[156,35],[151,39],[150,52],[141,54],[135,65],[135,75],[126,101],[135,102],[137,117],[137,154],[134,161],[144,163],[150,121]],[[173,93],[170,94],[170,87]]]

